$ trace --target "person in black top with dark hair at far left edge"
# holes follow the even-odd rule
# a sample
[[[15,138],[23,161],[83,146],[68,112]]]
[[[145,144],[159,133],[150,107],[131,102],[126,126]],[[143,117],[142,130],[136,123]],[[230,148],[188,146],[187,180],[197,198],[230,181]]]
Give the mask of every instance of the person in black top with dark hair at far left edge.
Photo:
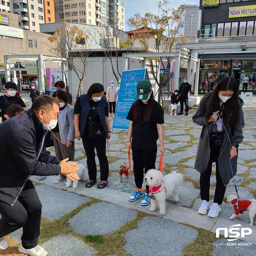
[[[6,95],[0,96],[0,116],[2,117],[2,122],[8,119],[6,110],[12,104],[18,104],[23,108],[26,108],[24,101],[20,97],[15,96],[17,92],[17,85],[14,82],[6,82],[5,92]]]

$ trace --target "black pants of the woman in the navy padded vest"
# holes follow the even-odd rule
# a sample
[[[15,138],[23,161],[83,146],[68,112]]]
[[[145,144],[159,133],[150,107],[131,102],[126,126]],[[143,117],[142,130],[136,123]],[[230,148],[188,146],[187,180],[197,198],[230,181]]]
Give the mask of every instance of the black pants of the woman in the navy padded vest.
[[[100,180],[107,181],[109,168],[108,168],[108,158],[106,156],[106,137],[101,138],[88,138],[84,134],[83,136],[84,150],[87,156],[87,167],[89,179],[97,180],[97,166],[95,162],[95,148],[97,156],[100,162]]]

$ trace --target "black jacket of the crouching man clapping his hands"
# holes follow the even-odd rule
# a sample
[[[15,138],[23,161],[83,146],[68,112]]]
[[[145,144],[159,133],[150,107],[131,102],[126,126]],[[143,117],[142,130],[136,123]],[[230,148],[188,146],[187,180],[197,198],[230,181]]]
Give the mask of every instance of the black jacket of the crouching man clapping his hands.
[[[28,175],[60,174],[59,160],[43,147],[44,130],[32,109],[0,124],[0,200],[12,204]]]

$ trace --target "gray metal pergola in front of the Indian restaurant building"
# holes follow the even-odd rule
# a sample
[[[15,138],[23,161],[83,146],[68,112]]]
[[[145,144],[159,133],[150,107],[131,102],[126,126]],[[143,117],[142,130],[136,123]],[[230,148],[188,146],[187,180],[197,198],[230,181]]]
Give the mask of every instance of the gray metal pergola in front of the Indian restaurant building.
[[[216,56],[222,56],[223,54],[244,54],[244,59],[248,59],[248,55],[251,54],[252,58],[256,60],[256,36],[255,39],[250,37],[250,40],[246,37],[239,38],[191,38],[193,42],[186,44],[177,44],[175,52],[147,52],[147,53],[124,53],[122,61],[122,70],[128,68],[128,58],[164,58],[172,57],[175,60],[175,75],[174,75],[174,88],[179,88],[179,76],[180,76],[180,62],[185,60],[188,63],[187,77],[190,83],[190,74],[192,62],[196,62],[196,76],[194,86],[194,97],[198,96],[198,82],[199,82],[199,70],[200,59],[195,57],[198,54],[215,54]]]

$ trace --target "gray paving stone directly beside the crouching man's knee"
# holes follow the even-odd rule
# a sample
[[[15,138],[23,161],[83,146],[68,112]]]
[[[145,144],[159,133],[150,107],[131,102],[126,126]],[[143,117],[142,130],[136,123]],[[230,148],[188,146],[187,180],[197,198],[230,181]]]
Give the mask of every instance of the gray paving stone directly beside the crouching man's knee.
[[[47,185],[36,186],[36,191],[42,202],[42,217],[49,220],[56,220],[90,200]]]

